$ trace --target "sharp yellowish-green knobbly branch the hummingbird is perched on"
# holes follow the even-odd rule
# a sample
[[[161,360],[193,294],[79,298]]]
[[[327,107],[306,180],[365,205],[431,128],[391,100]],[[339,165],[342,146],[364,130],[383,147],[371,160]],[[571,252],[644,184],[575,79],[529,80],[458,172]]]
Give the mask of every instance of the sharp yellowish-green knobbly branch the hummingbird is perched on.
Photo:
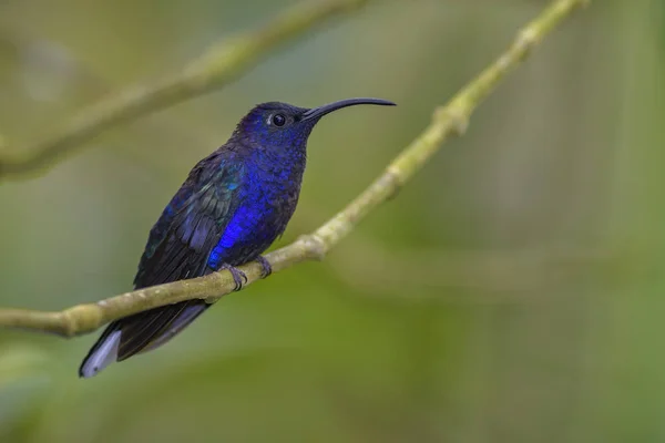
[[[497,61],[463,87],[448,105],[434,111],[431,124],[386,168],[365,192],[345,209],[294,244],[266,256],[278,272],[297,262],[321,259],[372,209],[393,196],[453,135],[461,135],[475,107],[498,83],[529,55],[531,50],[585,0],[556,0],[520,31],[514,42]],[[260,278],[260,265],[239,267],[247,284]],[[234,282],[226,270],[205,277],[154,286],[115,296],[96,303],[78,305],[59,312],[0,309],[0,326],[33,329],[72,337],[94,331],[101,326],[146,309],[190,299],[218,300],[231,292]]]

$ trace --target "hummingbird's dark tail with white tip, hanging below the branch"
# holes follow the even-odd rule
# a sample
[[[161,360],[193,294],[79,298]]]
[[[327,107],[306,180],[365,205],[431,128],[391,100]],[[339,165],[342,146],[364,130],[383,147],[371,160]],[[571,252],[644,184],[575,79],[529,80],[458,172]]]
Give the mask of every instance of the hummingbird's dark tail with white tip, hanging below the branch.
[[[202,300],[182,301],[112,322],[83,359],[79,377],[96,375],[114,361],[161,347],[209,306]]]

